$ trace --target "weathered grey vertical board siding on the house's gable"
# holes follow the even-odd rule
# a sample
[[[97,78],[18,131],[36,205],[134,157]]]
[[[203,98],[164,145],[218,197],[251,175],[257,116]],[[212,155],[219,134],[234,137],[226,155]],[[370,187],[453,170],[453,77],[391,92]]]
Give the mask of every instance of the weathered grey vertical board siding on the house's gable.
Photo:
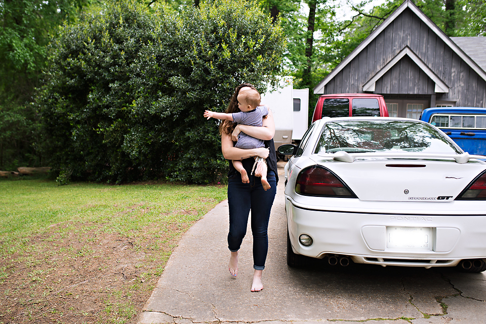
[[[449,86],[449,93],[436,94],[437,100],[486,105],[486,81],[409,8],[329,80],[324,93],[362,93],[363,85],[407,46]],[[405,55],[376,81],[374,93],[433,95],[435,83]]]

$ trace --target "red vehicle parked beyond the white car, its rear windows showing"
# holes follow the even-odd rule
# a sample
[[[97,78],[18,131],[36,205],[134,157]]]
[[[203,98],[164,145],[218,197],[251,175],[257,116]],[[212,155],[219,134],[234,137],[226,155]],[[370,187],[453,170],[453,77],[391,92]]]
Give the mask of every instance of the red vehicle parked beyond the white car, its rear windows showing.
[[[381,116],[388,117],[385,99],[368,93],[322,95],[315,105],[312,123],[322,117]]]

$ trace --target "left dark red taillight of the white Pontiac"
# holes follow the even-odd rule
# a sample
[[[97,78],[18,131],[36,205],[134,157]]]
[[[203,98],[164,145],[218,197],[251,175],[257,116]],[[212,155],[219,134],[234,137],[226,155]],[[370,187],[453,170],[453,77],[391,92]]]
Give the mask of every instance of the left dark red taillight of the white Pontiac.
[[[295,192],[311,196],[351,197],[356,195],[328,169],[314,166],[301,171]]]

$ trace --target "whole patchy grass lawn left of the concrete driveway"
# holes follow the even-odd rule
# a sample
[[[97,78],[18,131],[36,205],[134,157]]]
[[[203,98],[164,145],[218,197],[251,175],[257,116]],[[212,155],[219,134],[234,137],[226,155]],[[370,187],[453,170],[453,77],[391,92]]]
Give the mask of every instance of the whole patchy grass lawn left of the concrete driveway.
[[[135,323],[226,186],[0,180],[0,323]]]

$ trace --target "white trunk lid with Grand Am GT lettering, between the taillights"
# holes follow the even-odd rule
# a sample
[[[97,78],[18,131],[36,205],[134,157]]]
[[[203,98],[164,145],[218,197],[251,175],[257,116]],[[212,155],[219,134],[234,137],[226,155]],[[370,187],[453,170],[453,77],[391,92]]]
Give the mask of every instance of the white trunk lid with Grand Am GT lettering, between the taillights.
[[[454,200],[484,170],[476,161],[447,160],[356,159],[322,165],[361,200],[424,203]]]

